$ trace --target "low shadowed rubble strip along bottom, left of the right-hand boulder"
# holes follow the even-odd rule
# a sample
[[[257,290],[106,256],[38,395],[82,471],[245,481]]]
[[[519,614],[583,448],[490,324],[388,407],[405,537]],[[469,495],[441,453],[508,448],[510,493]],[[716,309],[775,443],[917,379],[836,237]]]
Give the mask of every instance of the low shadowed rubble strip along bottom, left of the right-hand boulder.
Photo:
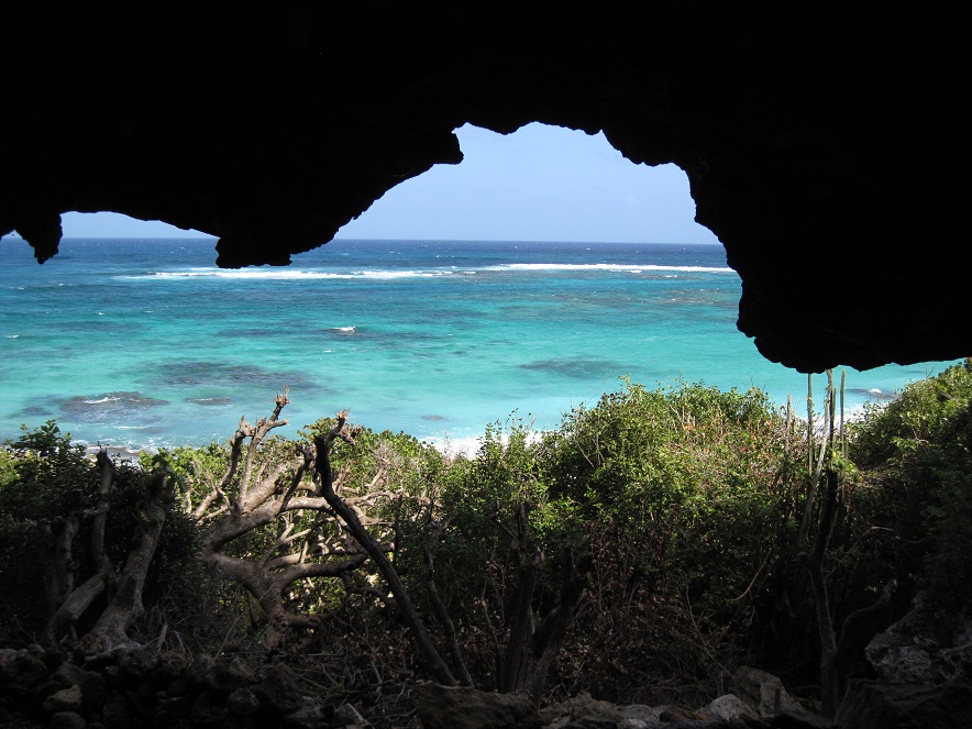
[[[283,663],[254,667],[240,658],[190,659],[140,649],[75,662],[40,648],[0,650],[0,724],[52,729],[125,727],[286,727],[349,729],[644,729],[672,727],[826,727],[778,678],[737,674],[739,696],[706,707],[617,706],[581,694],[537,709],[526,696],[444,687],[397,686],[369,705],[333,705]]]

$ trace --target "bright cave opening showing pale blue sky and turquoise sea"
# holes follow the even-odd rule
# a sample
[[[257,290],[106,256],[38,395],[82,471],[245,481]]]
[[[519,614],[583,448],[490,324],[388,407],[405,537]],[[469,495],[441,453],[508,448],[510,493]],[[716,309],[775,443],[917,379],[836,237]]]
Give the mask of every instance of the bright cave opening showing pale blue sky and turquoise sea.
[[[805,376],[767,362],[737,331],[739,279],[717,239],[694,222],[684,172],[632,164],[603,135],[563,128],[456,133],[462,164],[401,183],[289,267],[219,269],[213,239],[196,231],[66,214],[60,256],[36,266],[24,245],[21,276],[8,255],[7,274],[37,289],[19,300],[15,286],[7,289],[3,345],[15,365],[4,433],[53,417],[79,437],[132,448],[208,442],[284,386],[292,389],[295,427],[350,407],[372,427],[468,443],[513,411],[553,427],[621,376],[649,387],[758,386],[777,402],[802,396]],[[84,238],[104,241],[78,270],[65,253]],[[165,247],[153,239],[186,241]],[[473,241],[509,245],[470,252]],[[570,245],[541,245],[551,241]],[[682,247],[659,258],[642,250],[653,243]],[[107,298],[44,298],[57,291],[51,281],[75,278],[90,287],[58,295]],[[474,294],[473,281],[487,278]],[[139,301],[137,281],[151,300]],[[272,313],[236,303],[264,297],[280,301]],[[31,317],[56,311],[74,329],[38,342]],[[318,322],[309,336],[297,323],[308,316]],[[120,352],[115,366],[99,369],[82,356],[98,351]],[[51,362],[59,363],[54,382],[37,378]],[[917,365],[853,375],[851,401],[927,374]],[[191,430],[167,432],[167,422]]]

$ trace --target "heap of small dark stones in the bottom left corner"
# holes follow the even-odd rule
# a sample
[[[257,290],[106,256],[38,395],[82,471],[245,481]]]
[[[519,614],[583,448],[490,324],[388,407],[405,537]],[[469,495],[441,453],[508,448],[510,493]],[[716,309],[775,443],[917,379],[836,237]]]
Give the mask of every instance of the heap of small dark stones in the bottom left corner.
[[[324,729],[335,714],[273,663],[141,649],[77,665],[40,649],[0,650],[0,726]]]

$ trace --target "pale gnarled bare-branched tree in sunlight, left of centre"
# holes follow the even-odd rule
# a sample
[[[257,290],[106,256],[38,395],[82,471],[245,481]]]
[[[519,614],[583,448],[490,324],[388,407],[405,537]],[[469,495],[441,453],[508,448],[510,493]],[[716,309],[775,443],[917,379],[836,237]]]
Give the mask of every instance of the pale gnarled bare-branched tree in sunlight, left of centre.
[[[318,628],[316,615],[290,609],[286,596],[299,581],[341,577],[361,567],[367,555],[334,522],[312,473],[316,454],[301,443],[269,439],[287,424],[280,412],[289,402],[278,394],[268,418],[256,424],[241,419],[220,457],[212,452],[162,454],[169,467],[183,462],[184,498],[205,527],[205,563],[241,585],[262,608],[267,645],[278,647],[294,628]],[[188,455],[188,459],[187,459]],[[222,463],[222,474],[217,475]],[[380,473],[375,475],[379,481]],[[339,476],[339,485],[341,477]],[[352,499],[361,510],[374,493]]]

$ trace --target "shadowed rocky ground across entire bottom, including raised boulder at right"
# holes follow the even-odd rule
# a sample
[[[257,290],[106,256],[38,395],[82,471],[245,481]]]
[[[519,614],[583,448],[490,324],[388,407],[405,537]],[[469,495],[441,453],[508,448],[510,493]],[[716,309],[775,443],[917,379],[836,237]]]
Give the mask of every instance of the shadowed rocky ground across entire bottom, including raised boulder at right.
[[[742,667],[704,707],[618,706],[579,694],[537,708],[527,696],[418,682],[334,703],[281,660],[190,656],[152,647],[80,660],[0,649],[0,726],[11,729],[959,729],[972,726],[972,617],[945,620],[927,595],[868,647],[875,678],[850,683],[836,721],[780,678]],[[312,673],[312,672],[311,672]]]

